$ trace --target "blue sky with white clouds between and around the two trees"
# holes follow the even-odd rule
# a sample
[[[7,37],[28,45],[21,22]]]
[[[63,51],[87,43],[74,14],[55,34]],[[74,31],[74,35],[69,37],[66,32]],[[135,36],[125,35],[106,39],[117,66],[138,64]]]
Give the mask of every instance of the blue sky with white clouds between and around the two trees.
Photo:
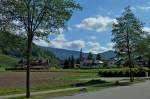
[[[50,43],[34,41],[40,46],[84,52],[101,53],[113,50],[111,42],[112,24],[121,16],[124,8],[131,6],[133,13],[144,23],[143,30],[150,32],[149,0],[75,0],[82,11],[75,11],[66,23],[66,29],[60,29],[59,35],[50,35]]]

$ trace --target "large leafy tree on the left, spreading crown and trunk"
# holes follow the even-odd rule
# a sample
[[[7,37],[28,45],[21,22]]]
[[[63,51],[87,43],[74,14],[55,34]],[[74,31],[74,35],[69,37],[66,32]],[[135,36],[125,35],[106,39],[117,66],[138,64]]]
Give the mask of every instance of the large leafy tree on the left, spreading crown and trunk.
[[[81,7],[73,0],[0,0],[0,15],[5,18],[9,16],[11,21],[8,29],[11,32],[20,30],[27,36],[27,98],[30,97],[30,58],[33,39],[46,39],[49,34],[58,33],[76,9]]]

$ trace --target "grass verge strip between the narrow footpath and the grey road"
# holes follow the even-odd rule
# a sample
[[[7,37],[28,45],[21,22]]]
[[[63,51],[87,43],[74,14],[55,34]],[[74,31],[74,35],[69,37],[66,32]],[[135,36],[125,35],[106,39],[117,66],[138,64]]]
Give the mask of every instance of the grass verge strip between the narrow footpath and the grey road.
[[[130,84],[140,83],[140,82],[143,82],[143,81],[136,80],[133,83],[127,81],[127,82],[120,82],[119,84],[116,84],[116,82],[107,82],[103,84],[101,83],[101,84],[88,86],[86,90],[84,91],[81,89],[75,89],[75,90],[70,90],[70,91],[54,92],[54,93],[42,94],[42,95],[32,95],[30,99],[51,99],[54,97],[70,96],[70,95],[75,95],[75,94],[91,92],[91,91],[99,91],[99,90],[103,90],[103,89],[110,88],[110,87],[127,86]],[[27,98],[17,97],[17,98],[9,98],[9,99],[27,99]]]

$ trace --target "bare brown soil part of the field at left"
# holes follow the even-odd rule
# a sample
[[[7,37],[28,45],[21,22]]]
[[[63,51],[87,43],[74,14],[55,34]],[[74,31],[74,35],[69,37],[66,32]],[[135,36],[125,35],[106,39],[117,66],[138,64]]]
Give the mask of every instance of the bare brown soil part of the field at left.
[[[65,84],[73,83],[73,81],[64,80],[64,77],[78,76],[78,73],[67,72],[32,72],[31,85],[39,86],[43,84]],[[0,72],[1,87],[25,87],[25,72]]]

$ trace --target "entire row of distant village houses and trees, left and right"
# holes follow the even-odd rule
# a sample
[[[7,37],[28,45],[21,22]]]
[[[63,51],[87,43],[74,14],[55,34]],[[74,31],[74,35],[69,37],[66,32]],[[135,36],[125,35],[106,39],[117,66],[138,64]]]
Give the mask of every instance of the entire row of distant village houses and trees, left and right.
[[[26,68],[26,60],[21,59],[18,62],[21,67]],[[145,66],[148,64],[146,60],[143,60],[141,57],[136,58],[136,65]],[[36,58],[31,62],[31,69],[48,69],[53,67],[53,64],[48,59]],[[98,69],[98,68],[113,68],[115,66],[126,66],[127,62],[123,59],[117,59],[113,57],[109,60],[103,59],[100,54],[92,54],[89,52],[87,55],[83,54],[82,49],[78,58],[74,58],[73,55],[67,57],[64,60],[60,60],[59,68],[63,69],[73,69],[73,68],[83,68],[83,69]]]

